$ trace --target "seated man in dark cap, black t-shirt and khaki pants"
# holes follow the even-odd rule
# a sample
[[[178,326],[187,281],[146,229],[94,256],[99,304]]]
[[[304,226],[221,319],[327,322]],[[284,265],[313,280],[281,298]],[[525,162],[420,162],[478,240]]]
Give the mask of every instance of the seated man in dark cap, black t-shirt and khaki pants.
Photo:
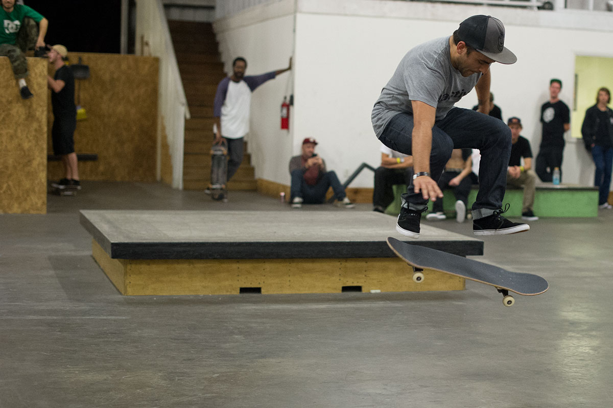
[[[522,219],[536,221],[533,206],[536,192],[536,173],[532,170],[532,149],[530,142],[520,136],[522,121],[519,118],[509,118],[507,124],[511,129],[511,157],[506,173],[506,184],[514,187],[524,187],[524,202],[522,203]],[[524,165],[522,165],[522,157]]]

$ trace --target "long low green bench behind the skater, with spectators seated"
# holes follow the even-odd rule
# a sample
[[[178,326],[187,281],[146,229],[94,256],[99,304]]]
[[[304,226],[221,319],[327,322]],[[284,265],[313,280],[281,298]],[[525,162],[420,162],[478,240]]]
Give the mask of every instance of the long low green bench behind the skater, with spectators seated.
[[[477,197],[478,186],[468,195],[468,211]],[[386,209],[386,214],[398,215],[400,213],[400,195],[406,192],[406,186],[394,186],[394,202]],[[452,190],[443,192],[443,210],[447,217],[455,216],[455,197]],[[511,206],[504,214],[506,217],[522,216],[522,200],[524,190],[507,188],[504,194],[503,207],[506,203]],[[428,211],[432,211],[432,202],[428,203]],[[596,217],[598,216],[598,189],[576,184],[541,184],[536,186],[535,215],[538,217]]]

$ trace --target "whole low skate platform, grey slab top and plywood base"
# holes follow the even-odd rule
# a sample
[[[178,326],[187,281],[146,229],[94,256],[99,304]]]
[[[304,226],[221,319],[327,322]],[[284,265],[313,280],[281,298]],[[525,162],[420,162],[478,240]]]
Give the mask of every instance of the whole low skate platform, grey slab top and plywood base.
[[[462,290],[427,282],[387,247],[395,218],[367,211],[81,211],[93,256],[124,295]],[[468,224],[467,224],[468,225]],[[467,227],[469,228],[469,227]],[[483,242],[423,225],[407,242],[482,255]]]

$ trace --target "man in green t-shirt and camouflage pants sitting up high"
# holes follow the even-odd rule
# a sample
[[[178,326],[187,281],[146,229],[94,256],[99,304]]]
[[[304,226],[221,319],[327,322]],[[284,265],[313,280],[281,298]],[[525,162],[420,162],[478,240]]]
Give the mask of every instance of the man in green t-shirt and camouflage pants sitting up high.
[[[25,78],[28,76],[28,63],[24,55],[29,48],[31,40],[32,23],[39,25],[36,39],[37,50],[45,48],[45,34],[47,34],[48,21],[40,13],[28,6],[15,4],[15,0],[1,0],[0,9],[0,56],[6,56],[10,60],[13,74],[17,78],[19,92],[23,99],[32,97]],[[31,21],[28,21],[31,19]],[[21,31],[21,33],[20,33]],[[20,49],[21,47],[21,49]],[[25,48],[25,49],[24,49]]]

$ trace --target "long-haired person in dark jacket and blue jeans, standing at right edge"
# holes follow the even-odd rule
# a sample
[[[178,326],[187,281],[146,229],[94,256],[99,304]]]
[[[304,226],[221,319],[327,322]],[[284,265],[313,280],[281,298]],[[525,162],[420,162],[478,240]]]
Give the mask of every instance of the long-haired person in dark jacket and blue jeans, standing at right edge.
[[[592,152],[596,165],[594,185],[598,187],[598,208],[613,208],[607,202],[613,167],[613,110],[607,107],[611,93],[607,88],[598,89],[596,105],[585,111],[581,134],[587,151]]]

